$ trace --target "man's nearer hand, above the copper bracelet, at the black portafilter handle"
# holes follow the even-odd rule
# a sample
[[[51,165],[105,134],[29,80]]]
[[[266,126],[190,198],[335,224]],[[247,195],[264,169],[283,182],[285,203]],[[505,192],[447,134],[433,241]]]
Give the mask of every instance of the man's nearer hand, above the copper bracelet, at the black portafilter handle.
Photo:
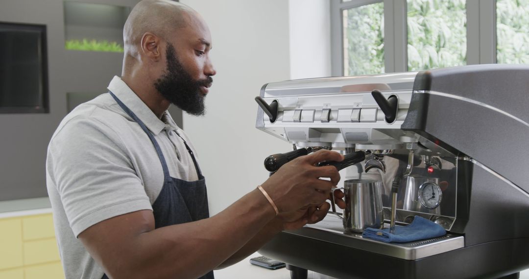
[[[315,165],[323,161],[342,160],[340,153],[329,150],[301,156],[281,166],[261,186],[268,192],[279,212],[318,207],[329,198],[331,189],[340,181],[340,174],[334,166]]]

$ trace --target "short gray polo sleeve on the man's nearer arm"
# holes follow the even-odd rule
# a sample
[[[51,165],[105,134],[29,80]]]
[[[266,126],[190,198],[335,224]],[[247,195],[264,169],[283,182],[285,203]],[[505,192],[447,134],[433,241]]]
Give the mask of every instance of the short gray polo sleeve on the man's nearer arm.
[[[120,135],[98,119],[77,116],[57,131],[47,171],[76,237],[103,220],[152,210]]]

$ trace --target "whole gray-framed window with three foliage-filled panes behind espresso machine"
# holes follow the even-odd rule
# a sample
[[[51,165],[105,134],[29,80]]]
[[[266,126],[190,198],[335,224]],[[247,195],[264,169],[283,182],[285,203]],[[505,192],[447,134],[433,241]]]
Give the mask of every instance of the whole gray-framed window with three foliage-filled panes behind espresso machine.
[[[331,49],[333,76],[529,64],[529,0],[331,0]]]

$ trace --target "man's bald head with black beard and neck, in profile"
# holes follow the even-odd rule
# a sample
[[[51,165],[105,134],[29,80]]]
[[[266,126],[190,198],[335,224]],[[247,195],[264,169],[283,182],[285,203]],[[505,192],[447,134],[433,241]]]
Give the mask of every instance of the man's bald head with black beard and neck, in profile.
[[[204,97],[216,71],[209,59],[209,28],[190,7],[143,0],[123,29],[122,80],[161,117],[169,104],[204,113]]]

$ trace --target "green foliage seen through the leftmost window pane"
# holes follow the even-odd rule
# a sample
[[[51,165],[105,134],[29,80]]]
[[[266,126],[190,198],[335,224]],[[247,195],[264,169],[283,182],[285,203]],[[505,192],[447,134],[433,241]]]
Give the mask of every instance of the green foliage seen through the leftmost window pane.
[[[344,76],[384,72],[384,3],[343,11]]]

